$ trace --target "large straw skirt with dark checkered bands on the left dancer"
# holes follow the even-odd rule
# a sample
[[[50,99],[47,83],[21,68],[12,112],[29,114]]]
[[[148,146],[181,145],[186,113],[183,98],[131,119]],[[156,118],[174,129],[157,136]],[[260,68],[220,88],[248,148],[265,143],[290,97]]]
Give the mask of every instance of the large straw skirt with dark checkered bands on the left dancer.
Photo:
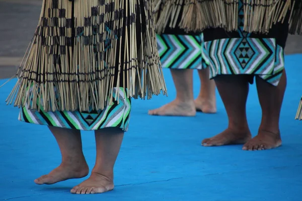
[[[120,79],[128,97],[166,94],[154,7],[151,0],[43,0],[39,25],[7,103],[45,112],[103,110],[118,100],[112,94]],[[145,30],[138,33],[137,27]]]

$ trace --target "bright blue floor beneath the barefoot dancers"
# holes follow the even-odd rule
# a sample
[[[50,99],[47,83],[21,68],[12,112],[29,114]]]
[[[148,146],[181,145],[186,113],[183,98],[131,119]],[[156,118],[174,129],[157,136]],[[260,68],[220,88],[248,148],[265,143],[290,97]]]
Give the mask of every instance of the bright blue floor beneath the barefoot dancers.
[[[164,70],[169,97],[161,95],[132,102],[129,132],[115,166],[116,187],[95,195],[69,193],[84,179],[41,186],[33,182],[60,163],[60,153],[47,127],[19,122],[18,109],[6,106],[4,99],[15,83],[13,80],[0,89],[0,200],[301,200],[302,122],[294,120],[302,95],[301,65],[302,55],[286,56],[288,85],[280,120],[283,145],[259,152],[242,151],[242,146],[200,146],[203,138],[221,132],[228,123],[220,97],[215,115],[148,116],[148,109],[160,107],[175,97],[171,75]],[[197,95],[197,73],[194,79]],[[261,117],[255,85],[250,89],[247,113],[255,135]],[[83,132],[83,148],[92,169],[93,132]]]

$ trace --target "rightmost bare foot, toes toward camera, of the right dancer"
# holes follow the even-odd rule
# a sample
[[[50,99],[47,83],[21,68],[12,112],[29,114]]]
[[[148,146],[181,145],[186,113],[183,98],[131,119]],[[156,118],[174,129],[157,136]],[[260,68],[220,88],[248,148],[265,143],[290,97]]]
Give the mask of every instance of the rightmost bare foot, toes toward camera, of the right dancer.
[[[258,135],[243,145],[243,150],[256,151],[273,149],[281,146],[280,133],[259,130]]]

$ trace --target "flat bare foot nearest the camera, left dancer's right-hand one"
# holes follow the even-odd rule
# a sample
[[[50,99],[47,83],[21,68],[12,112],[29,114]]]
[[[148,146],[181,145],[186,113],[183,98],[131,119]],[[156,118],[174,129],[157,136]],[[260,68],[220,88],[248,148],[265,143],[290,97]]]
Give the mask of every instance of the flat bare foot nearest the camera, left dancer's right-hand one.
[[[105,175],[92,172],[88,179],[79,185],[74,186],[70,192],[74,194],[95,194],[107,192],[113,190],[113,188],[113,179],[108,178]]]

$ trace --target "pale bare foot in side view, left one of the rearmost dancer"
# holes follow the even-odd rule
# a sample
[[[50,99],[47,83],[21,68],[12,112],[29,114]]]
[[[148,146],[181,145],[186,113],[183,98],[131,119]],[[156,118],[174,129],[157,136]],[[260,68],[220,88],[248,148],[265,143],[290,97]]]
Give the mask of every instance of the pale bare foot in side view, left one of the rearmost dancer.
[[[178,100],[173,100],[173,102],[162,106],[161,108],[155,110],[149,110],[149,115],[159,115],[159,116],[183,116],[192,117],[196,115],[196,109],[194,102],[186,103],[179,102]]]

